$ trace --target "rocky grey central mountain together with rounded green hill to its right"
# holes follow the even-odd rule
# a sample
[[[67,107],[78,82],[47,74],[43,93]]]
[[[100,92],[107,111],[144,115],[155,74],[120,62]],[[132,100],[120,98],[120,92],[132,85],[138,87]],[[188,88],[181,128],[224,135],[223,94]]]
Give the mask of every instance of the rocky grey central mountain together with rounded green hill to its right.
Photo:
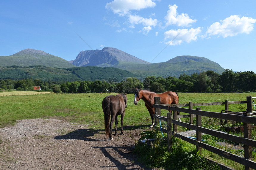
[[[191,75],[207,70],[221,74],[225,70],[216,62],[204,57],[190,55],[177,56],[162,63],[149,63],[116,48],[104,47],[102,50],[81,51],[75,60],[75,66],[115,67],[130,71],[143,77],[179,77],[180,74]]]

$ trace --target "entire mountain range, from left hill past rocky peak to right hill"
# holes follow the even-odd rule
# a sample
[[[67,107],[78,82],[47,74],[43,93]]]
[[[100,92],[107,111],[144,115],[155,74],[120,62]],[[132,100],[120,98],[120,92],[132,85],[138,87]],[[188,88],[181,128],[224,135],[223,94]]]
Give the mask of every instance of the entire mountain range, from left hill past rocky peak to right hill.
[[[0,61],[1,61],[0,66],[4,68],[6,68],[7,66],[20,66],[20,67],[41,66],[40,70],[46,69],[47,67],[51,67],[50,70],[52,70],[52,67],[54,67],[54,68],[63,68],[66,71],[68,70],[68,68],[74,69],[74,67],[79,68],[79,67],[96,66],[96,67],[93,67],[93,69],[102,69],[101,67],[112,67],[112,68],[114,67],[117,69],[126,70],[126,72],[128,71],[127,73],[129,73],[129,75],[132,75],[132,77],[135,77],[135,76],[136,77],[147,77],[147,76],[179,77],[179,75],[183,73],[191,75],[193,73],[200,73],[207,70],[213,70],[214,72],[221,74],[222,72],[225,71],[218,63],[210,61],[209,59],[204,57],[185,55],[185,56],[177,56],[175,58],[172,58],[162,63],[149,63],[135,56],[132,56],[128,53],[125,53],[124,51],[121,51],[112,47],[104,47],[102,50],[81,51],[77,55],[77,57],[72,61],[66,61],[63,58],[51,55],[41,50],[34,50],[34,49],[25,49],[10,56],[0,56]],[[46,67],[42,67],[42,66],[46,66]],[[10,70],[9,72],[11,72]],[[89,75],[88,69],[78,69],[78,70],[79,72],[84,71],[84,74]],[[37,72],[37,71],[39,70],[34,69],[34,72]],[[112,69],[112,71],[113,71],[112,74],[114,75],[114,72],[116,72],[117,70]],[[1,75],[1,72],[2,72],[2,69],[0,69],[0,75]],[[48,71],[45,71],[45,72],[48,72]],[[120,73],[120,74],[123,74],[123,73]],[[111,74],[108,74],[108,75],[111,75]],[[127,74],[126,76],[129,76],[129,75]],[[108,77],[104,78],[104,76],[103,77],[96,76],[96,77],[100,77],[99,79],[103,79],[103,80],[106,80],[108,78]],[[119,79],[121,79],[121,77],[119,77]],[[2,79],[1,76],[0,76],[0,79]]]

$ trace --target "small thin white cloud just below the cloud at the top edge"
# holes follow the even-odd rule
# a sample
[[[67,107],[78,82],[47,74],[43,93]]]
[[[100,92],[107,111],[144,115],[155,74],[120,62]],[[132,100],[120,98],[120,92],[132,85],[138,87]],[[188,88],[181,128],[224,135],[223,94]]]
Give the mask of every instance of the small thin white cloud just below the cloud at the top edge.
[[[157,19],[143,18],[138,15],[129,15],[129,22],[133,24],[142,24],[143,26],[156,26]]]

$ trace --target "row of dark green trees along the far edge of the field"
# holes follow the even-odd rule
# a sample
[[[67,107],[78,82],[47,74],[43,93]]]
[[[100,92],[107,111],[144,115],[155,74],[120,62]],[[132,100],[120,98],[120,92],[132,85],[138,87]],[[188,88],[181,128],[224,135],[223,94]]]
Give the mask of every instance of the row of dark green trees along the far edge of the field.
[[[110,79],[110,80],[114,80]],[[117,79],[116,79],[117,80]],[[39,79],[0,80],[0,90],[33,90],[33,86],[40,86],[43,91],[54,93],[133,93],[135,88],[143,88],[155,93],[164,91],[175,92],[246,92],[255,91],[256,74],[251,71],[233,72],[225,69],[222,74],[214,71],[181,74],[177,77],[127,77],[119,81],[73,81],[54,82]]]

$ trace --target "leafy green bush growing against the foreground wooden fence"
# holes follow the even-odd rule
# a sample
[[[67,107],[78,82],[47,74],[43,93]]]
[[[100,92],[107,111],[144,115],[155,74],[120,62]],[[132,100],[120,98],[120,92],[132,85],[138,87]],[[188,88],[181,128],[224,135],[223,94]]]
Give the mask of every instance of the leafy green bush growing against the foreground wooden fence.
[[[155,141],[151,146],[137,143],[134,151],[138,155],[139,161],[146,164],[149,168],[182,170],[221,169],[216,164],[209,164],[199,152],[196,152],[194,145],[191,147],[188,142],[178,138],[172,139],[172,152],[168,152],[167,137],[162,136],[158,129],[143,132],[141,135],[141,139],[155,137]]]

